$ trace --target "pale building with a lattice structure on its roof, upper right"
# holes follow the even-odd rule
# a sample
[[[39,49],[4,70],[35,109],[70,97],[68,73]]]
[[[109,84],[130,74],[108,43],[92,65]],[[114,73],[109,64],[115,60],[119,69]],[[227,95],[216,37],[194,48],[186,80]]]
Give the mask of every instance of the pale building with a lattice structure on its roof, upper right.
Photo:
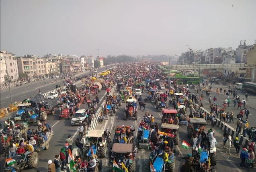
[[[236,63],[247,63],[247,52],[251,48],[253,48],[253,45],[246,45],[246,40],[242,44],[241,40],[240,45],[236,48]]]

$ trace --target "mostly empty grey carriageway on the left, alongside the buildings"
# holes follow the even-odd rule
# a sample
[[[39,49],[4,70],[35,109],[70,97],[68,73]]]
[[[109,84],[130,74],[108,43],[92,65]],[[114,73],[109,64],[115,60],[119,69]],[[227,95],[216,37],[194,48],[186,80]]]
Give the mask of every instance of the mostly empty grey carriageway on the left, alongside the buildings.
[[[109,66],[109,67],[111,67],[111,66]],[[103,70],[106,70],[106,66],[100,68],[98,70],[98,72],[101,72]],[[78,74],[78,76],[87,75],[89,73],[92,74],[92,72],[88,71],[88,72],[80,73],[80,74]],[[73,78],[74,77],[72,77],[72,79]],[[39,80],[36,82],[23,84],[22,86],[11,87],[12,103],[15,101],[21,102],[26,98],[35,96],[36,94],[39,93],[39,88],[41,89],[41,94],[43,94],[43,93],[49,92],[51,90],[54,90],[56,88],[55,87],[56,85],[63,86],[63,81],[65,79],[52,83],[53,80],[54,79]],[[49,82],[49,84],[45,84],[45,82]],[[9,104],[11,103],[9,88],[2,89],[0,91],[0,96],[1,96],[0,107],[7,108],[9,106]]]

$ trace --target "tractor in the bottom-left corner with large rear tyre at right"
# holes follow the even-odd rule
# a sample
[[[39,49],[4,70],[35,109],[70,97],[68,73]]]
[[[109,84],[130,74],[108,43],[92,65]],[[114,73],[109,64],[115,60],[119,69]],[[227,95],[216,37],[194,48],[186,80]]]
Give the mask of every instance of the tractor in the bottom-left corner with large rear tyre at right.
[[[23,161],[22,156],[20,154],[16,154],[15,156],[12,157],[12,160],[15,160],[15,162],[12,165],[8,165],[6,162],[4,172],[21,172],[23,169],[27,167],[36,168],[39,162],[39,156],[37,152],[32,152],[31,154],[29,154],[26,160]]]

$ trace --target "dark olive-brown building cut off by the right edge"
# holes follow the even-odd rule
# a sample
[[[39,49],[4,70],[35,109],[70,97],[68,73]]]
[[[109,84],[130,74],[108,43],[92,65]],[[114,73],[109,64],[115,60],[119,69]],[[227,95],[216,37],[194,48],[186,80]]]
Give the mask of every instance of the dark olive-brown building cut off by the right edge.
[[[256,42],[250,50],[247,51],[247,64],[256,64]],[[254,81],[256,82],[256,67],[254,68]],[[247,68],[246,78],[252,78],[252,68]]]

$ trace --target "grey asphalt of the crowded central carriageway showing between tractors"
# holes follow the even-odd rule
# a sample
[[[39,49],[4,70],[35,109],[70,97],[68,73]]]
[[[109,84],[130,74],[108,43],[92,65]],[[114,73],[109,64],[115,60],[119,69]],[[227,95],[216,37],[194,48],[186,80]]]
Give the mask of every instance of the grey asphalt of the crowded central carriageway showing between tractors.
[[[164,91],[164,90],[163,90]],[[147,96],[147,92],[142,94],[142,99],[144,99]],[[108,128],[111,131],[111,140],[113,140],[113,136],[115,134],[115,131],[112,130],[113,126],[121,126],[121,125],[134,125],[135,126],[135,140],[137,139],[137,128],[139,126],[139,122],[143,119],[143,114],[145,112],[148,112],[150,114],[154,115],[155,122],[158,122],[158,124],[161,123],[161,113],[157,112],[155,108],[154,103],[147,102],[145,112],[142,110],[138,111],[138,120],[135,121],[133,119],[123,120],[123,112],[124,112],[125,104],[122,104],[121,107],[117,109],[116,114],[114,114],[113,117],[110,117],[107,122],[103,122],[102,124],[98,124],[96,129],[105,129]],[[211,128],[210,126],[207,126],[207,129]],[[235,155],[235,149],[231,148],[231,156],[225,153],[225,150],[222,146],[222,140],[223,140],[223,132],[218,128],[213,128],[215,132],[215,136],[217,139],[217,171],[218,172],[226,172],[227,170],[232,171],[244,171],[243,169],[240,169],[238,166],[240,163],[240,158]],[[191,147],[189,150],[186,150],[184,148],[181,148],[182,140],[186,140],[187,142],[190,141],[190,138],[187,138],[186,136],[186,125],[181,125],[179,128],[179,143],[176,147],[176,165],[175,165],[175,172],[179,171],[179,168],[181,167],[184,160],[178,158],[178,154],[182,156],[186,156],[186,154],[191,153]],[[189,142],[190,143],[190,142]],[[110,144],[109,149],[111,148],[112,144]],[[150,151],[148,150],[139,150],[139,153],[136,155],[136,172],[149,172],[149,165],[148,165],[148,159],[150,156]],[[107,166],[108,166],[108,154],[106,155],[106,158],[103,158],[103,166],[102,166],[102,172],[107,172]]]

